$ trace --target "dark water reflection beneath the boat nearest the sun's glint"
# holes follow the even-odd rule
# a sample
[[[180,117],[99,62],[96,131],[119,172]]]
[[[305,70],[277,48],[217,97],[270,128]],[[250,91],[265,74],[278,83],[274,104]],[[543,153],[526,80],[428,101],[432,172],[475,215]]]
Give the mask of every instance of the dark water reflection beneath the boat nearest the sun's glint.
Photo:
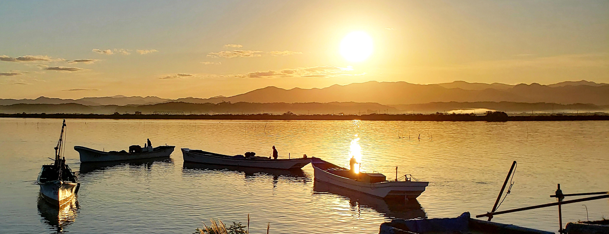
[[[384,200],[365,193],[337,187],[326,182],[314,182],[314,195],[323,196],[328,193],[339,195],[340,198],[348,200],[353,210],[359,210],[361,206],[364,206],[373,208],[373,210],[376,210],[376,212],[381,213],[387,218],[427,218],[423,207],[421,207],[421,204],[416,199],[410,199],[409,201]]]

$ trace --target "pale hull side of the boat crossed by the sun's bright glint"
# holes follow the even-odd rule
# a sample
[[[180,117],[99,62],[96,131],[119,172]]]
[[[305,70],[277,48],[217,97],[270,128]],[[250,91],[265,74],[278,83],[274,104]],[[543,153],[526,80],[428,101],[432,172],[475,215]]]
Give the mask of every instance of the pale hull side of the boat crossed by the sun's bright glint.
[[[320,160],[314,158],[313,160]],[[418,181],[387,181],[379,183],[359,182],[347,177],[329,173],[312,163],[313,175],[316,181],[334,184],[350,190],[367,193],[383,199],[415,199],[425,191],[429,182]]]

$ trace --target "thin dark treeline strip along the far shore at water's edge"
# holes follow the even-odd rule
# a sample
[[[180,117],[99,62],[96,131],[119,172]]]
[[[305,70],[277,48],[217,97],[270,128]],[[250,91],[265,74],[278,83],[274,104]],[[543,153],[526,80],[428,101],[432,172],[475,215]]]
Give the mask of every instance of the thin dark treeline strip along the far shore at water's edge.
[[[486,115],[474,114],[367,114],[367,115],[296,115],[276,114],[0,114],[0,118],[48,118],[48,119],[202,119],[202,120],[403,120],[403,121],[581,121],[609,120],[609,115],[516,115],[504,112],[487,112]]]

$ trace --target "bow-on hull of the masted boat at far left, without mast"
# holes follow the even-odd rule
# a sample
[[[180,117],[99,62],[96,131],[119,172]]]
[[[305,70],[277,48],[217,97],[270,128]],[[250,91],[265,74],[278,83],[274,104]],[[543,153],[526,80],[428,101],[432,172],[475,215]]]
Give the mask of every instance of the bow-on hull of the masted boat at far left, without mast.
[[[62,206],[74,198],[78,183],[67,181],[51,181],[40,184],[40,194],[52,205]]]

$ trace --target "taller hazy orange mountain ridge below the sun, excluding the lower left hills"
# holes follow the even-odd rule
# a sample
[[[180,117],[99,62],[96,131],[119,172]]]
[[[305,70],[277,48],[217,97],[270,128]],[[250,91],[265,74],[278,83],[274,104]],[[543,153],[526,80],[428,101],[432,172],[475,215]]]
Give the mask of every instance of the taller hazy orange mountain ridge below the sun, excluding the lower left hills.
[[[491,84],[489,84],[491,85]],[[501,84],[499,84],[501,86]],[[224,98],[207,98],[205,102],[372,102],[382,105],[429,102],[522,102],[522,103],[591,103],[609,105],[609,85],[566,85],[551,87],[537,83],[517,84],[505,89],[445,88],[440,84],[400,82],[334,84],[323,89],[281,89],[273,86]]]

